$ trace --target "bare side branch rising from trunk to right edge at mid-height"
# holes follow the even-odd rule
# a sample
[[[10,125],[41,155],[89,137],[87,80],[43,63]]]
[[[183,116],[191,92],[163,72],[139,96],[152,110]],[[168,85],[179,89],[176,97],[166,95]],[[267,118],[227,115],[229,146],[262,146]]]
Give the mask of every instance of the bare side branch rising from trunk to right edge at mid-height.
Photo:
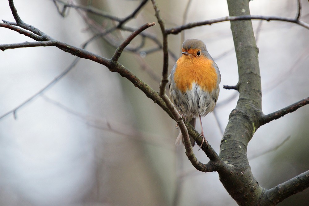
[[[280,110],[275,111],[273,113],[270,113],[268,115],[264,115],[264,116],[262,116],[262,121],[261,121],[261,125],[260,126],[262,126],[264,124],[267,124],[270,121],[277,120],[280,117],[283,117],[283,116],[285,116],[288,113],[296,111],[300,107],[303,107],[303,106],[305,106],[307,104],[309,104],[309,97],[307,97],[305,99],[302,99],[302,100],[300,100],[298,102],[295,102],[294,104],[291,104],[291,105],[289,105],[287,107],[284,107],[283,109],[280,109]]]

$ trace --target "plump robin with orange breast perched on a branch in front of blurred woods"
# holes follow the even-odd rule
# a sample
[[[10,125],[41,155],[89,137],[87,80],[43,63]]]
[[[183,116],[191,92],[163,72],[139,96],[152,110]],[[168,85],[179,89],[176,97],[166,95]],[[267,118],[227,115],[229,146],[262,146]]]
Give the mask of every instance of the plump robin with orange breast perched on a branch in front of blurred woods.
[[[214,110],[219,96],[221,74],[218,65],[209,55],[201,40],[187,39],[182,44],[182,55],[174,64],[168,77],[170,99],[179,113],[195,128],[197,117],[201,123],[202,147],[204,136],[201,117]],[[177,137],[180,144],[182,134]],[[194,140],[190,137],[191,145]]]

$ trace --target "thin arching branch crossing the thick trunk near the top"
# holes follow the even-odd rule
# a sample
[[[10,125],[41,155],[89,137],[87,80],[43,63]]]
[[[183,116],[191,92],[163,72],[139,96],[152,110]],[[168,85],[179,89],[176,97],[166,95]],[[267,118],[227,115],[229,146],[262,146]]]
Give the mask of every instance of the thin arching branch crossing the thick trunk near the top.
[[[185,29],[190,29],[193,27],[199,27],[203,25],[211,25],[214,23],[220,23],[220,22],[225,22],[225,21],[238,21],[238,20],[266,20],[266,21],[283,21],[283,22],[289,22],[289,23],[295,23],[298,24],[306,29],[309,29],[309,24],[299,21],[296,18],[287,18],[287,17],[280,17],[280,16],[258,16],[258,15],[242,15],[242,16],[226,16],[218,19],[210,19],[206,21],[199,21],[199,22],[192,22],[192,23],[187,23],[185,25],[181,25],[178,27],[174,28],[169,28],[166,29],[167,34],[178,34],[179,32],[185,30]]]

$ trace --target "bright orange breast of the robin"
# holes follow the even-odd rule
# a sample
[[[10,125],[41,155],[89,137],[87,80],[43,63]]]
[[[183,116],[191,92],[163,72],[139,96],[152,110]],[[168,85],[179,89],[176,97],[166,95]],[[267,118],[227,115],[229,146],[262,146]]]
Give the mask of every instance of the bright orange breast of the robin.
[[[213,61],[204,56],[188,57],[182,55],[177,61],[174,75],[176,87],[182,92],[192,89],[193,83],[199,85],[202,90],[211,92],[218,81]]]

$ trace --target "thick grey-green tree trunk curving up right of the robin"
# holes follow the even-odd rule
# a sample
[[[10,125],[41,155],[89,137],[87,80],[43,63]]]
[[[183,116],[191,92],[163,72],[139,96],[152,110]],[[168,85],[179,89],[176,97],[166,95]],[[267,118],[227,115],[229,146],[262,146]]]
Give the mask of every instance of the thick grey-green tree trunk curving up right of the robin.
[[[227,3],[230,16],[250,15],[248,0],[227,0]],[[231,172],[218,173],[220,181],[239,205],[258,205],[264,189],[254,178],[246,154],[262,115],[259,50],[251,20],[232,21],[231,30],[238,64],[239,100],[230,114],[220,149],[220,157],[231,167]]]

